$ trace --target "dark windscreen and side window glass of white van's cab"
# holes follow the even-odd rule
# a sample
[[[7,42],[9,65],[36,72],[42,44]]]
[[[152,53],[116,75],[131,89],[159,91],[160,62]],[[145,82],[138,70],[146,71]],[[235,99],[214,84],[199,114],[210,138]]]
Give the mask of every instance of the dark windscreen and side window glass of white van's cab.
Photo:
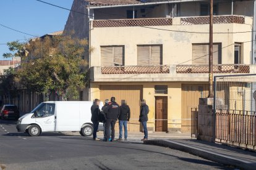
[[[42,103],[40,107],[35,108],[33,113],[35,113],[36,118],[43,118],[47,116],[53,116],[55,110],[54,103]]]

